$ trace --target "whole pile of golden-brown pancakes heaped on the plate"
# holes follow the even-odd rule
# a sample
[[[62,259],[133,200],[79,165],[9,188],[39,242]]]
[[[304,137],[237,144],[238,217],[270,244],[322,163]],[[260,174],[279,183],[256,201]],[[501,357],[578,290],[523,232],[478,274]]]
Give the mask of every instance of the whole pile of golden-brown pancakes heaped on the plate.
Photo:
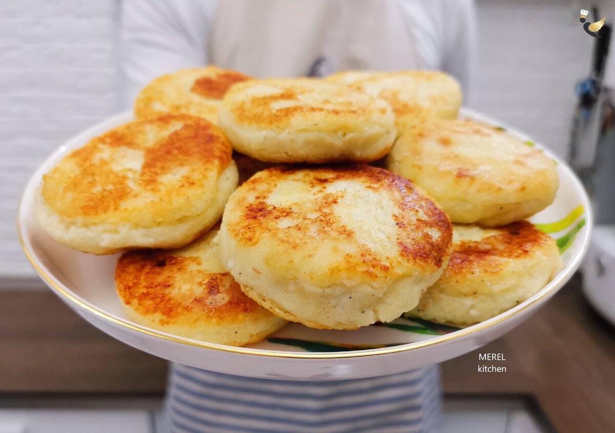
[[[517,220],[558,182],[538,151],[453,120],[459,106],[440,72],[179,71],[141,92],[140,120],[44,176],[39,221],[81,251],[129,251],[116,284],[130,315],[189,338],[245,345],[286,321],[355,329],[407,311],[482,321],[557,270],[554,241]],[[391,171],[365,165],[387,154]]]

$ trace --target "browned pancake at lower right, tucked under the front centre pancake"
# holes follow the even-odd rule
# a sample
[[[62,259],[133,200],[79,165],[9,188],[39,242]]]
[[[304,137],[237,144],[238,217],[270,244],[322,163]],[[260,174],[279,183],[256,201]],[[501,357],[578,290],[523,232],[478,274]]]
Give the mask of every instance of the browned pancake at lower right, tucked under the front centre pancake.
[[[536,294],[560,266],[555,240],[530,222],[455,225],[448,267],[411,314],[436,322],[482,322]]]

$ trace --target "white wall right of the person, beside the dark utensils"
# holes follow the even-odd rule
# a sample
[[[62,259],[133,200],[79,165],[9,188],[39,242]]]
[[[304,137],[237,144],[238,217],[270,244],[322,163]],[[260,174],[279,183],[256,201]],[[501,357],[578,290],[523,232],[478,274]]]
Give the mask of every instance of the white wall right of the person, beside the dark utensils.
[[[478,65],[470,104],[564,157],[574,84],[590,72],[594,39],[579,22],[579,10],[590,3],[476,1]]]

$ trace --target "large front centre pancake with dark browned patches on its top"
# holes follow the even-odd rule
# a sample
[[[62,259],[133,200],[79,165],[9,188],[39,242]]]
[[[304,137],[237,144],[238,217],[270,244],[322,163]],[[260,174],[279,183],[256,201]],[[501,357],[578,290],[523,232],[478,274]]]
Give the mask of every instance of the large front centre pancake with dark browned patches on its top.
[[[231,195],[219,241],[245,294],[277,316],[355,329],[414,308],[451,238],[448,217],[411,182],[351,165],[256,173]]]

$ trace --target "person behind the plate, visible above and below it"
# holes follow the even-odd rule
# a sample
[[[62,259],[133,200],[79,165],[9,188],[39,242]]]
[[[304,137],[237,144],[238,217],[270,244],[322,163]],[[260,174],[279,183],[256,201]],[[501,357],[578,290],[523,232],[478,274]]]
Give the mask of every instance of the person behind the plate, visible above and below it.
[[[131,105],[154,78],[208,64],[260,78],[442,70],[467,90],[474,46],[471,0],[130,0],[121,20]],[[437,432],[440,400],[433,365],[355,380],[284,381],[172,363],[162,427]]]

